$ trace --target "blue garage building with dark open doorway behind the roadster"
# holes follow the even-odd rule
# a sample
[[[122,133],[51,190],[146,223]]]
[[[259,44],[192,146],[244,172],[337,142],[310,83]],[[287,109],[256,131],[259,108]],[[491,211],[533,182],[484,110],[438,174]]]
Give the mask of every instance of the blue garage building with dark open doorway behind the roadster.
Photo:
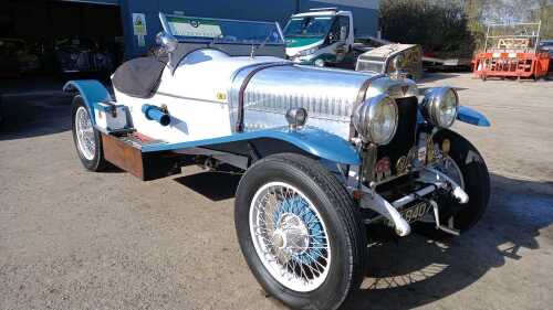
[[[119,45],[123,55],[144,55],[160,31],[158,12],[225,19],[278,21],[311,8],[336,7],[354,13],[357,35],[376,35],[378,0],[3,0],[0,38],[24,39],[52,47],[55,40],[90,38]],[[144,19],[144,33],[133,21]],[[144,34],[144,35],[143,35]],[[123,53],[124,49],[124,53]]]

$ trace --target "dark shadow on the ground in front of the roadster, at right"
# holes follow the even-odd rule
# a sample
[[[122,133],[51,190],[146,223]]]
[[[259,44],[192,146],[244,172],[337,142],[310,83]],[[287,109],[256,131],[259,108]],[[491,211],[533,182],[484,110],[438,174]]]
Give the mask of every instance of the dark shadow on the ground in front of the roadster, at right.
[[[447,243],[413,235],[369,248],[369,270],[351,310],[411,309],[450,296],[521,248],[539,249],[540,231],[553,223],[553,182],[492,175],[492,196],[482,221]]]

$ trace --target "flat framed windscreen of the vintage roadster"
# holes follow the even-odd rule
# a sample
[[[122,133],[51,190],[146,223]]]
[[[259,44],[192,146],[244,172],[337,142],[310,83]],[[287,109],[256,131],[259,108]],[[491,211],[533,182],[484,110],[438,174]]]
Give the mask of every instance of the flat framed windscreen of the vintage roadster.
[[[159,14],[165,31],[179,41],[237,44],[284,44],[275,22]]]

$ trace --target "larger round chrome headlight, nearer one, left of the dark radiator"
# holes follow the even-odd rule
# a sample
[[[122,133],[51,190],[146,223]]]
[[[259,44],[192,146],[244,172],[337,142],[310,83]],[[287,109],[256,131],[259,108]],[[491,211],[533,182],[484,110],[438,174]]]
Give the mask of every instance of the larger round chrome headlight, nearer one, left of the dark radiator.
[[[396,101],[380,94],[361,104],[353,114],[353,126],[365,142],[386,145],[396,133],[398,111]]]

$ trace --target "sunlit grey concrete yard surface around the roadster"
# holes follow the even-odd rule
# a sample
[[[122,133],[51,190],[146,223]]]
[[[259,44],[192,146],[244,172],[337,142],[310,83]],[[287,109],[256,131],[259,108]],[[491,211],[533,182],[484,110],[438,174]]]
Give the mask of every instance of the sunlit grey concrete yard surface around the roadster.
[[[352,309],[552,309],[553,82],[434,75],[491,128],[456,125],[482,152],[492,196],[451,243],[413,235],[371,249]],[[140,182],[86,172],[69,97],[4,98],[0,132],[0,309],[283,309],[242,259],[238,178]]]

